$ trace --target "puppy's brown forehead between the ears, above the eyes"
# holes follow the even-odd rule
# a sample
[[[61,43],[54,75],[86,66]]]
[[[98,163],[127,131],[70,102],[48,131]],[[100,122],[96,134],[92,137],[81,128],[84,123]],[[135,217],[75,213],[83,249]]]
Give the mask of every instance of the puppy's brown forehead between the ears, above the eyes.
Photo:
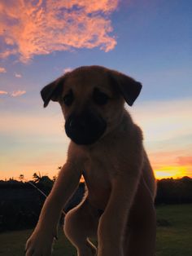
[[[107,71],[103,68],[81,67],[66,74],[64,90],[93,90],[94,87],[111,90]]]

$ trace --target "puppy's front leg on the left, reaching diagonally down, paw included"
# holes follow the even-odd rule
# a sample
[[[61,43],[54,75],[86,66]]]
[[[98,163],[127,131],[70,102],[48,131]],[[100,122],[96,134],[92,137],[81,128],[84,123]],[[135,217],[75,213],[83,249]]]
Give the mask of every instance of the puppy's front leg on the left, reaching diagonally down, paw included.
[[[71,162],[67,162],[59,172],[50,195],[41,210],[37,227],[26,244],[26,256],[48,256],[57,235],[57,225],[63,206],[75,191],[81,171]]]

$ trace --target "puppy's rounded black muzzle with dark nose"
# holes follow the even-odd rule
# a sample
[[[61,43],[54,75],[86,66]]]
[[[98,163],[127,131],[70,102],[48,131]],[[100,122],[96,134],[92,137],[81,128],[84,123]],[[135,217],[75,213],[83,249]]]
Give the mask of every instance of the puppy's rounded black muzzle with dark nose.
[[[66,134],[79,145],[95,143],[106,130],[107,123],[94,113],[73,113],[65,122]]]

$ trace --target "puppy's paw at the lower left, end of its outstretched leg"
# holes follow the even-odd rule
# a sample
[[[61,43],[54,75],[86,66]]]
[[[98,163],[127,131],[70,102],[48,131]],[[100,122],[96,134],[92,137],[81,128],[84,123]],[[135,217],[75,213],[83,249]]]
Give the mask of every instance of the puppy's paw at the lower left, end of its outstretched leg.
[[[25,256],[50,256],[53,241],[53,234],[34,231],[25,245]]]

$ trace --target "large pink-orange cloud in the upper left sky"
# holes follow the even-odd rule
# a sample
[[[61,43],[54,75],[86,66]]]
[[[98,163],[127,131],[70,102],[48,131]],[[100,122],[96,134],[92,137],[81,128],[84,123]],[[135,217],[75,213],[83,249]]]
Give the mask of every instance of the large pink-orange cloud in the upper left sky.
[[[74,48],[116,46],[110,15],[120,0],[10,0],[0,3],[1,57],[17,55],[28,62],[34,55]],[[20,11],[18,11],[20,10]]]

